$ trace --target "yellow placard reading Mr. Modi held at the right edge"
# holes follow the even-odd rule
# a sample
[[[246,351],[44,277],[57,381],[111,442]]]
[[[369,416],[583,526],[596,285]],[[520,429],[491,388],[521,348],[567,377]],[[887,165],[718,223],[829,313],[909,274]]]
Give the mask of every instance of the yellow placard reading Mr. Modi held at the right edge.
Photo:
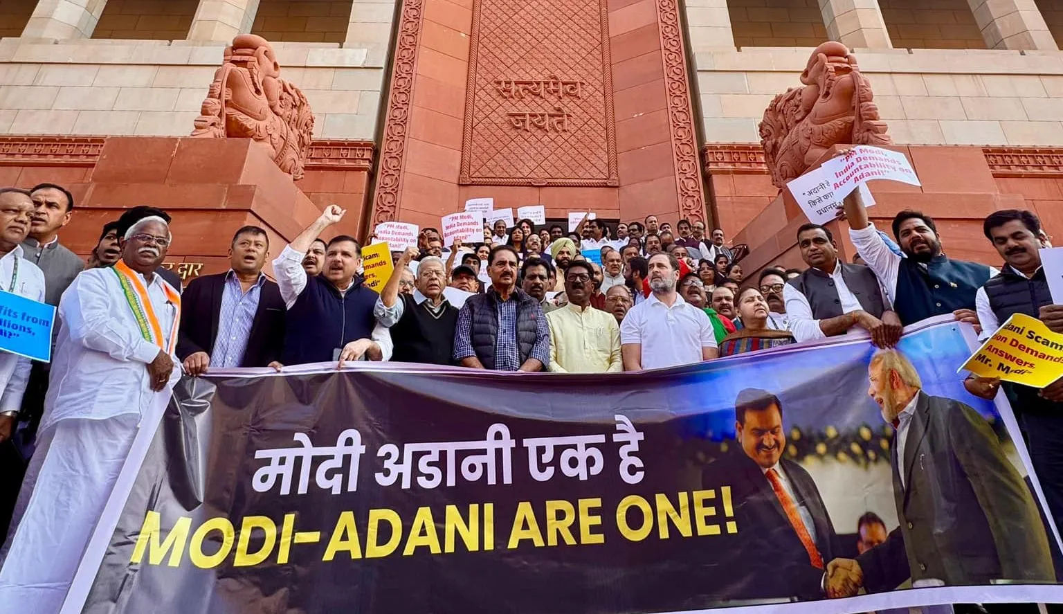
[[[1063,377],[1063,334],[1036,318],[1015,314],[960,370],[1043,388]]]

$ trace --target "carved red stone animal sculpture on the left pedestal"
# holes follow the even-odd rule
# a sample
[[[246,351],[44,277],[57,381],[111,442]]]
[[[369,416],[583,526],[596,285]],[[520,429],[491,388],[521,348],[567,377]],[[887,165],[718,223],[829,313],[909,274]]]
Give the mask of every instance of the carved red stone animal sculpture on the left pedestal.
[[[302,179],[314,113],[303,93],[280,74],[269,42],[254,34],[233,38],[191,135],[253,138],[281,170]]]

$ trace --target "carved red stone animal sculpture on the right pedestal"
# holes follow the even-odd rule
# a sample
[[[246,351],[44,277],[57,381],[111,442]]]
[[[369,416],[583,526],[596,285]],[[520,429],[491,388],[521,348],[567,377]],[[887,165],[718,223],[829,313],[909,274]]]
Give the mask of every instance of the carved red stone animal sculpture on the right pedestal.
[[[819,46],[791,87],[772,100],[760,122],[760,144],[777,187],[800,177],[838,144],[890,145],[871,82],[841,43]]]

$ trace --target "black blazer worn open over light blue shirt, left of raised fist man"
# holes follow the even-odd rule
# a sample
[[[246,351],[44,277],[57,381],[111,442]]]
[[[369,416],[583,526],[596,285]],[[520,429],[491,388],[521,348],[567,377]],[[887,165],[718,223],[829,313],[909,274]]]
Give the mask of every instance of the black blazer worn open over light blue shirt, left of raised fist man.
[[[181,295],[178,358],[182,361],[196,352],[209,354],[214,351],[226,275],[196,278]],[[258,294],[258,310],[248,335],[248,349],[243,352],[241,367],[266,367],[281,360],[286,315],[281,289],[276,283],[267,280]]]

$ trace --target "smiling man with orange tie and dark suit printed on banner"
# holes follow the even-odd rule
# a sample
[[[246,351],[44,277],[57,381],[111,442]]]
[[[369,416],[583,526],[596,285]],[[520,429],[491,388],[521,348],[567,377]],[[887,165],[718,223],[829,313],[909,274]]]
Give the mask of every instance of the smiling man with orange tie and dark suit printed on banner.
[[[838,534],[812,477],[782,459],[782,403],[746,388],[735,401],[735,419],[739,449],[711,463],[703,483],[730,486],[738,533],[720,576],[707,581],[730,599],[823,598]]]

